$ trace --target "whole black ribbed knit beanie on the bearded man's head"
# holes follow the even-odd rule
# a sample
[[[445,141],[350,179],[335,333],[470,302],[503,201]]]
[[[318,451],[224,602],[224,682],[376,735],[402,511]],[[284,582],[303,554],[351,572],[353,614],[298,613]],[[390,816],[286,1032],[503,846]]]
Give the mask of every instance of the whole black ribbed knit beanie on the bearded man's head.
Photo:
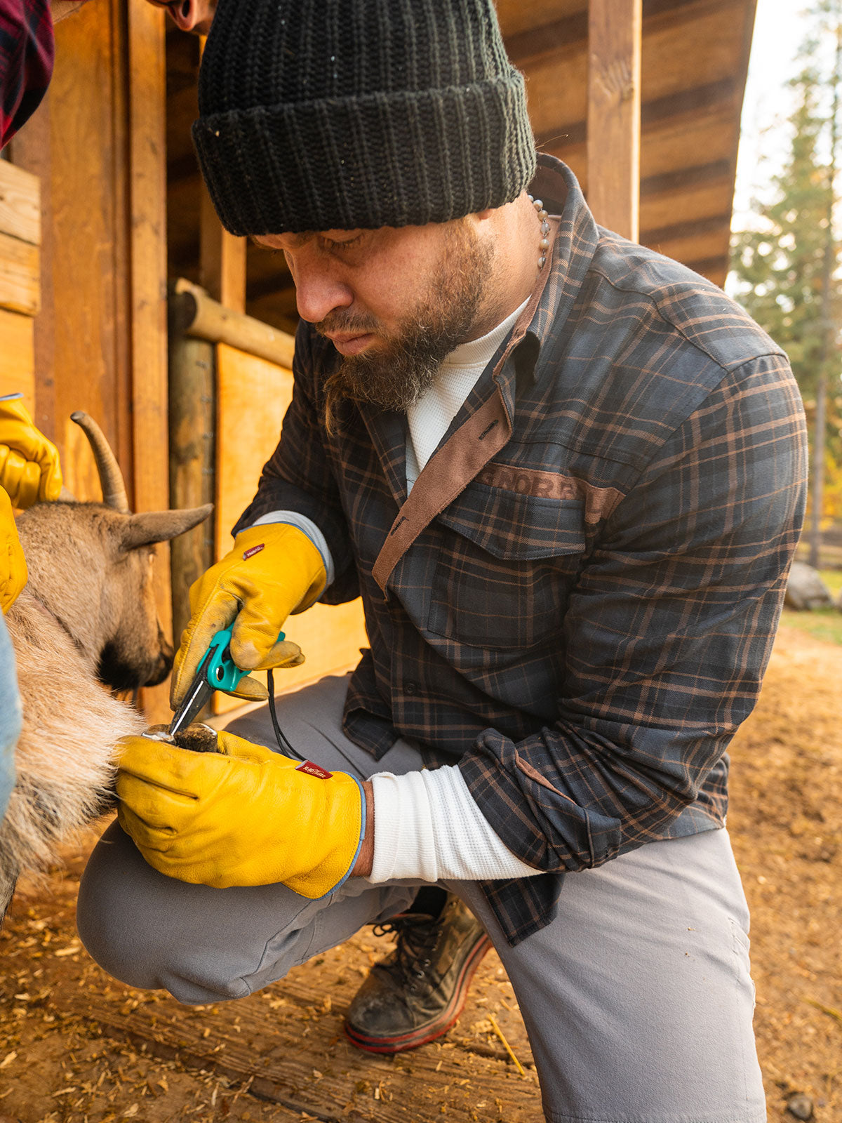
[[[492,0],[220,0],[199,113],[236,235],[446,222],[534,174]]]

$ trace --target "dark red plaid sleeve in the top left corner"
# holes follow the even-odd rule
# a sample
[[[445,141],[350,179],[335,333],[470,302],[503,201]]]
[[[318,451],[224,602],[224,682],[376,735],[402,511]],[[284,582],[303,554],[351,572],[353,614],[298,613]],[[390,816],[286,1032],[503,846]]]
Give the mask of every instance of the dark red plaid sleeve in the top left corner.
[[[38,108],[54,53],[49,0],[0,0],[0,147]]]

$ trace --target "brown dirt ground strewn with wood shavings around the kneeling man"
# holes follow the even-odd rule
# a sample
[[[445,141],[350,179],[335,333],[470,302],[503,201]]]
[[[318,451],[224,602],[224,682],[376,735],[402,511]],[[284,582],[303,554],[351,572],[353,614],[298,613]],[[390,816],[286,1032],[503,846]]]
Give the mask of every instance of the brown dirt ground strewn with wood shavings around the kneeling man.
[[[781,629],[732,754],[729,829],[752,909],[772,1121],[791,1121],[787,1104],[802,1093],[817,1123],[842,1123],[841,684],[842,647]],[[80,947],[74,901],[91,841],[45,887],[24,886],[0,933],[7,1120],[541,1119],[529,1044],[493,953],[447,1038],[393,1059],[366,1057],[340,1034],[350,996],[384,950],[370,930],[259,995],[179,1006],[108,979]]]

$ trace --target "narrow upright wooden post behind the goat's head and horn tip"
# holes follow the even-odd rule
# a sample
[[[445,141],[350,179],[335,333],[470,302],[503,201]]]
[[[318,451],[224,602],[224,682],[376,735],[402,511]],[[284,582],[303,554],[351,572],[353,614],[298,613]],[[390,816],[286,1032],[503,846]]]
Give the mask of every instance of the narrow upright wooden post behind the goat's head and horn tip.
[[[134,508],[155,511],[170,506],[164,12],[146,3],[127,7]],[[162,626],[168,632],[168,547],[159,546],[158,555],[156,600]],[[167,695],[166,684],[144,691],[147,718],[170,720]]]

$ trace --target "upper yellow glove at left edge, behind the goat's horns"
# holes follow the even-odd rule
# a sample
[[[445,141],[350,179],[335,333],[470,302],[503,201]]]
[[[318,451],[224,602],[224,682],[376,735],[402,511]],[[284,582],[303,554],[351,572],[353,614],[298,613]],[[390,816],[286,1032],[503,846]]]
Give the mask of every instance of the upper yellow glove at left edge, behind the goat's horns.
[[[0,486],[17,508],[56,500],[62,490],[58,450],[35,428],[20,395],[0,398]]]

